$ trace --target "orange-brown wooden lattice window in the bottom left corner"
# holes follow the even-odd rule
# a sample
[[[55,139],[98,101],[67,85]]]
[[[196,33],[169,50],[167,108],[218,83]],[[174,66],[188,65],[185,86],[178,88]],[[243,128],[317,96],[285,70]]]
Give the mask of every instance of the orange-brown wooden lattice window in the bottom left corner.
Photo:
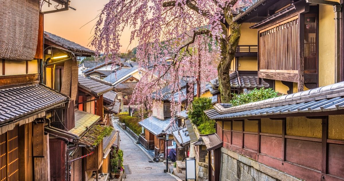
[[[18,126],[0,135],[0,180],[19,180]]]

